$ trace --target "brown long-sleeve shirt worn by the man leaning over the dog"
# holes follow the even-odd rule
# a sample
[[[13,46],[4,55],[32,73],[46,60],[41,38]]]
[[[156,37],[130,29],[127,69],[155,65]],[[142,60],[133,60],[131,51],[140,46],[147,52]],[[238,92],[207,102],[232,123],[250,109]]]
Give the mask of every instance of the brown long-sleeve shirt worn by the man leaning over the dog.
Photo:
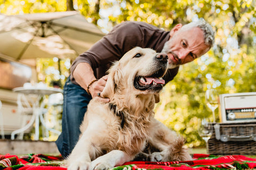
[[[79,63],[89,63],[97,79],[103,77],[113,61],[119,60],[134,47],[152,48],[161,52],[164,43],[170,38],[170,31],[164,31],[145,22],[127,21],[116,25],[106,36],[95,43],[89,50],[79,55],[72,63],[71,81],[75,84],[73,71]],[[169,69],[164,76],[165,82],[177,75],[179,67]]]

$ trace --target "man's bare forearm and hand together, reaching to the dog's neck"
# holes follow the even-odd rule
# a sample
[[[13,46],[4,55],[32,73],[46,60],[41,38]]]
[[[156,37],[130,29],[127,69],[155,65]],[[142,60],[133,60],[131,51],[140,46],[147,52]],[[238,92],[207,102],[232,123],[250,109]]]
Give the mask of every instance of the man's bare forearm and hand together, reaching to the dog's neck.
[[[77,64],[73,77],[76,82],[84,89],[87,89],[88,85],[95,80],[92,67],[88,63],[79,63]],[[89,87],[89,92],[92,95],[92,98],[98,97],[98,93],[103,91],[107,82],[107,75],[100,78],[98,81],[93,82]],[[108,98],[98,97],[100,101],[105,103],[109,102]]]

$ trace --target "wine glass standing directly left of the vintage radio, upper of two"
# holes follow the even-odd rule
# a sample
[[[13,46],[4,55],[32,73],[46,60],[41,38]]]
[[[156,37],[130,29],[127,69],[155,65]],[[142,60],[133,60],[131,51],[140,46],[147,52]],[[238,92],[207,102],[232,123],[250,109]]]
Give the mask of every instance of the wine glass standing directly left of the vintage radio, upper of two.
[[[218,94],[215,89],[207,89],[205,92],[205,103],[212,111],[213,123],[215,123],[215,109],[218,107]]]

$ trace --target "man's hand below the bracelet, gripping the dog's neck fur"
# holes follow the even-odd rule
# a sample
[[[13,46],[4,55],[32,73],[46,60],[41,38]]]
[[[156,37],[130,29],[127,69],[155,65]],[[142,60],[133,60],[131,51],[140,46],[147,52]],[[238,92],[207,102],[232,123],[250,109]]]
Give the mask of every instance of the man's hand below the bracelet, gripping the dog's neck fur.
[[[95,81],[92,83],[92,85],[89,88],[90,94],[92,95],[92,98],[97,98],[97,100],[102,101],[103,103],[108,103],[110,101],[109,98],[103,98],[101,95],[101,92],[106,86],[108,80],[108,75],[103,76],[98,81]]]

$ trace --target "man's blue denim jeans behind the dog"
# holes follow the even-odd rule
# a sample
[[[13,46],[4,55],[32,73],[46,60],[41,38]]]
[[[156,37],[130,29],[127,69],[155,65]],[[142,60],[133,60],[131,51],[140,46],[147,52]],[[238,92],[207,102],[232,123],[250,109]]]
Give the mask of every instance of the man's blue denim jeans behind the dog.
[[[92,97],[82,87],[72,83],[70,78],[63,88],[63,97],[62,132],[55,143],[60,154],[66,158],[78,141],[81,133],[79,126]]]

